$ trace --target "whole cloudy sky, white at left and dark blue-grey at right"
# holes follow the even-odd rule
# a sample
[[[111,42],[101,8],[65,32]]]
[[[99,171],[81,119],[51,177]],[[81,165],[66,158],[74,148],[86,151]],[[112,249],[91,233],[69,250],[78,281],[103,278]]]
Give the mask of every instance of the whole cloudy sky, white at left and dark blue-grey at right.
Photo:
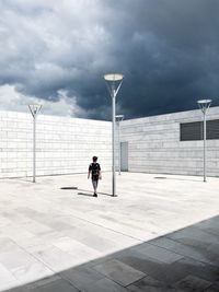
[[[111,119],[219,105],[218,0],[0,0],[0,109]]]

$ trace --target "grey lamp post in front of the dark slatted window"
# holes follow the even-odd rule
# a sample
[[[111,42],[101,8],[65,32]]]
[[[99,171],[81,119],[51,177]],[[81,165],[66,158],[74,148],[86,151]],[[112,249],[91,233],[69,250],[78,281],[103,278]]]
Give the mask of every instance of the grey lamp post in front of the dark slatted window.
[[[203,163],[204,163],[204,182],[206,182],[206,114],[207,114],[207,109],[210,107],[210,104],[211,104],[211,100],[199,100],[197,101],[197,104],[200,108],[200,110],[203,112],[203,145],[204,145],[204,160],[203,160]]]

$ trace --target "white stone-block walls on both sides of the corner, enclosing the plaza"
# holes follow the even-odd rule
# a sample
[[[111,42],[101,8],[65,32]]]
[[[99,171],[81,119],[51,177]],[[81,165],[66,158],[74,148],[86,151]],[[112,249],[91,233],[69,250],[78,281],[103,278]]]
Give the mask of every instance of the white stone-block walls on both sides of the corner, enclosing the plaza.
[[[120,141],[128,142],[129,172],[203,175],[203,141],[180,141],[180,124],[201,118],[197,109],[122,121]],[[219,119],[219,107],[209,109],[208,119]],[[93,155],[99,156],[103,171],[111,171],[111,131],[110,121],[39,114],[36,174],[84,173]],[[207,174],[219,176],[219,140],[208,140],[207,147]],[[32,161],[31,114],[0,112],[0,178],[32,176]]]

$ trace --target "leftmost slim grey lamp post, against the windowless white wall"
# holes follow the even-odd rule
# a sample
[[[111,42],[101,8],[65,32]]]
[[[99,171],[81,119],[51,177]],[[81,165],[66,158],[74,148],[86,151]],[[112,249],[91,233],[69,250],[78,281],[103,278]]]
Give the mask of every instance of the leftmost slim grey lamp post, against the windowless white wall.
[[[33,116],[33,183],[36,182],[36,117],[41,110],[42,105],[30,104],[28,109]]]

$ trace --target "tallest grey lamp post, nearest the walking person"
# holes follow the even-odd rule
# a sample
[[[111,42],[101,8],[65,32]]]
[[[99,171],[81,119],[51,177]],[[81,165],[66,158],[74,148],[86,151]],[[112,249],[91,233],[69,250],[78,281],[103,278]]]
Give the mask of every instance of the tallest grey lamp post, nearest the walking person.
[[[112,183],[113,183],[113,194],[116,196],[116,176],[115,176],[115,116],[116,116],[116,95],[123,83],[124,75],[117,73],[111,73],[104,75],[106,86],[108,89],[110,95],[112,97]]]

